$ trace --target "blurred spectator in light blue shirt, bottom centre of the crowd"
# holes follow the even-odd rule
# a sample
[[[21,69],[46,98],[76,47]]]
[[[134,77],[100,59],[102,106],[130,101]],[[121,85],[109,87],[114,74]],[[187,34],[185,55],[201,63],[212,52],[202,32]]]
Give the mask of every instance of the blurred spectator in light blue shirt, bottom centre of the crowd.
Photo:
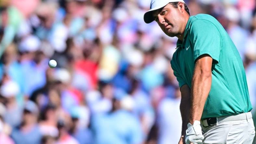
[[[139,120],[130,112],[131,97],[117,96],[112,99],[112,110],[107,114],[95,115],[92,128],[96,144],[141,144],[143,133]]]

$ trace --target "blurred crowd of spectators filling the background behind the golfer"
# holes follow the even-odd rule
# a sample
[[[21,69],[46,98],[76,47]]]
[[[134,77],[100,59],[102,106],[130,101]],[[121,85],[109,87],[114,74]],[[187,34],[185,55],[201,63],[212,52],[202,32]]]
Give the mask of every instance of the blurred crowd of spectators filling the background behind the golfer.
[[[237,46],[256,117],[255,0],[185,2],[191,15],[217,18]],[[149,5],[0,0],[0,144],[178,143],[177,38],[144,23]]]

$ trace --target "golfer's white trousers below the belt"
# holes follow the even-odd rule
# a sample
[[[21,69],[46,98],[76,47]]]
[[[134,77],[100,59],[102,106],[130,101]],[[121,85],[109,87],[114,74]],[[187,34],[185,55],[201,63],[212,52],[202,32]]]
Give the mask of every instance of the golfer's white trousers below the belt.
[[[251,144],[255,136],[252,118],[201,127],[204,135],[202,144]]]

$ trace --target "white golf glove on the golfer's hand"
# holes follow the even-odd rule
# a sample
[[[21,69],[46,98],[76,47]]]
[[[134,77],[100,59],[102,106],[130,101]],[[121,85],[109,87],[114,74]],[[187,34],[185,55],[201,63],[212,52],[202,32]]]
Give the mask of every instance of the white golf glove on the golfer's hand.
[[[201,144],[204,139],[204,136],[202,134],[202,128],[200,126],[199,121],[194,121],[193,126],[188,123],[187,124],[187,130],[186,130],[186,137],[185,142],[186,144]]]

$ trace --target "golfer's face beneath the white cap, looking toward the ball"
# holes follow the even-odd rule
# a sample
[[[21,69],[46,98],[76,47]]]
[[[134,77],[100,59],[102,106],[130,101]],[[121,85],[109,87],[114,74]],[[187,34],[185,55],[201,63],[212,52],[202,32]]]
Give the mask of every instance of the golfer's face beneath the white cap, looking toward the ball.
[[[158,23],[163,32],[174,37],[182,33],[183,15],[181,10],[167,4],[160,10],[153,13],[155,21]]]

